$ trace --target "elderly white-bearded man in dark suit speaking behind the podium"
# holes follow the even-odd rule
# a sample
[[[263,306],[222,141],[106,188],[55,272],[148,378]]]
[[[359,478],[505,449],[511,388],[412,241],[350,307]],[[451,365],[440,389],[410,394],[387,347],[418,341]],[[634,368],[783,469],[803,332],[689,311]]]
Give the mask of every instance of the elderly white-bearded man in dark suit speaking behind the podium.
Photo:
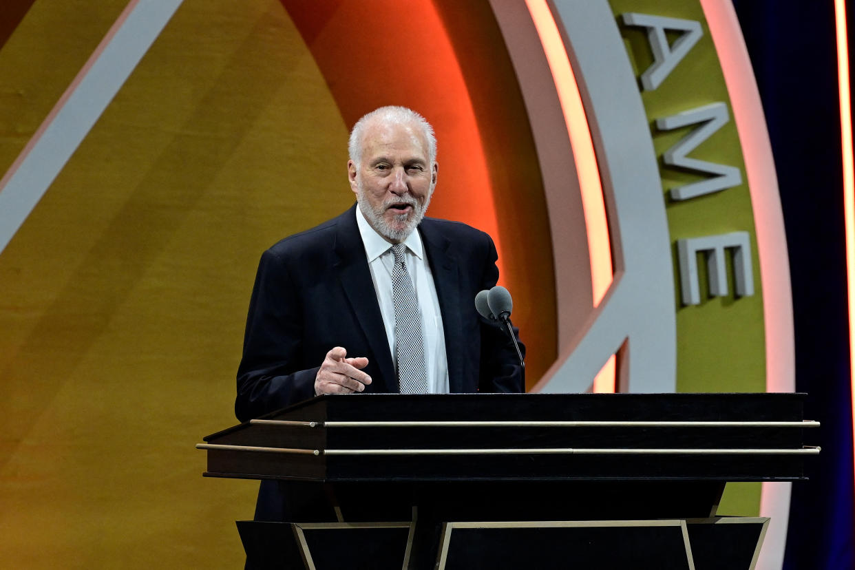
[[[510,338],[475,310],[498,279],[492,239],[424,217],[438,174],[433,128],[383,107],[353,127],[349,151],[357,204],[262,255],[239,420],[319,394],[523,391]],[[286,520],[294,505],[280,511],[265,485],[257,519]]]

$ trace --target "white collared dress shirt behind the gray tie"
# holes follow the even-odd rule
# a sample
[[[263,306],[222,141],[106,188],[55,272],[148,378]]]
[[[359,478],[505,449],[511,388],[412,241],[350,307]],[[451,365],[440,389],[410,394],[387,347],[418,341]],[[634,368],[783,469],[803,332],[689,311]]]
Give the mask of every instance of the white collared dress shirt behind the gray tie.
[[[365,256],[369,261],[371,280],[374,281],[374,292],[377,303],[380,304],[380,314],[383,315],[383,325],[386,327],[386,338],[389,340],[389,350],[392,362],[398,370],[395,344],[395,305],[392,303],[392,268],[395,258],[392,256],[392,244],[386,241],[365,219],[361,209],[357,207],[357,226],[365,245]],[[428,374],[428,393],[448,393],[448,361],[445,357],[445,334],[442,328],[442,313],[439,311],[439,297],[436,295],[436,285],[433,284],[433,273],[425,257],[422,246],[422,236],[412,232],[404,240],[407,246],[405,261],[407,272],[413,282],[413,288],[418,297],[419,310],[422,313],[422,340],[424,342],[425,370]],[[359,355],[354,355],[359,356]]]

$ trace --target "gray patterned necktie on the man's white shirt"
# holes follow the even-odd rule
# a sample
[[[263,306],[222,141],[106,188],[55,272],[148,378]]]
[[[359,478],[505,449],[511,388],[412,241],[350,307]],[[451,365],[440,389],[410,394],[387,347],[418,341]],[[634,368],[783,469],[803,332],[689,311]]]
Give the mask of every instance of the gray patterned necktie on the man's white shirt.
[[[398,350],[398,386],[402,394],[424,394],[428,391],[425,354],[422,345],[422,314],[410,273],[404,264],[404,244],[390,248],[395,256],[392,269],[392,303],[395,304],[395,343]]]

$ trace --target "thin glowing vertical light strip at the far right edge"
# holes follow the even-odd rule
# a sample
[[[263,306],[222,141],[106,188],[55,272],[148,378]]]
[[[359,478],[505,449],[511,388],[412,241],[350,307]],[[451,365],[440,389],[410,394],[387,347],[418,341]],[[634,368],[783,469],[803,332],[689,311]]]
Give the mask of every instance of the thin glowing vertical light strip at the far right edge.
[[[846,280],[849,297],[849,377],[852,414],[855,417],[855,167],[852,165],[852,98],[849,89],[849,40],[846,37],[846,3],[834,0],[837,27],[837,74],[840,89],[840,146],[843,150],[843,212],[846,219]],[[855,434],[855,421],[852,422]]]

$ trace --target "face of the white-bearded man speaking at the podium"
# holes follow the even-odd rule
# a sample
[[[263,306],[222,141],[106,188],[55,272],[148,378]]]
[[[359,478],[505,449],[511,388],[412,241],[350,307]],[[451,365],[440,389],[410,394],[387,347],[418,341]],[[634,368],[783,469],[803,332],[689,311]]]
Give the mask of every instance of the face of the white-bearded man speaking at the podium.
[[[393,244],[416,229],[436,185],[436,162],[415,125],[375,120],[366,127],[361,164],[347,162],[351,190],[365,219]]]

